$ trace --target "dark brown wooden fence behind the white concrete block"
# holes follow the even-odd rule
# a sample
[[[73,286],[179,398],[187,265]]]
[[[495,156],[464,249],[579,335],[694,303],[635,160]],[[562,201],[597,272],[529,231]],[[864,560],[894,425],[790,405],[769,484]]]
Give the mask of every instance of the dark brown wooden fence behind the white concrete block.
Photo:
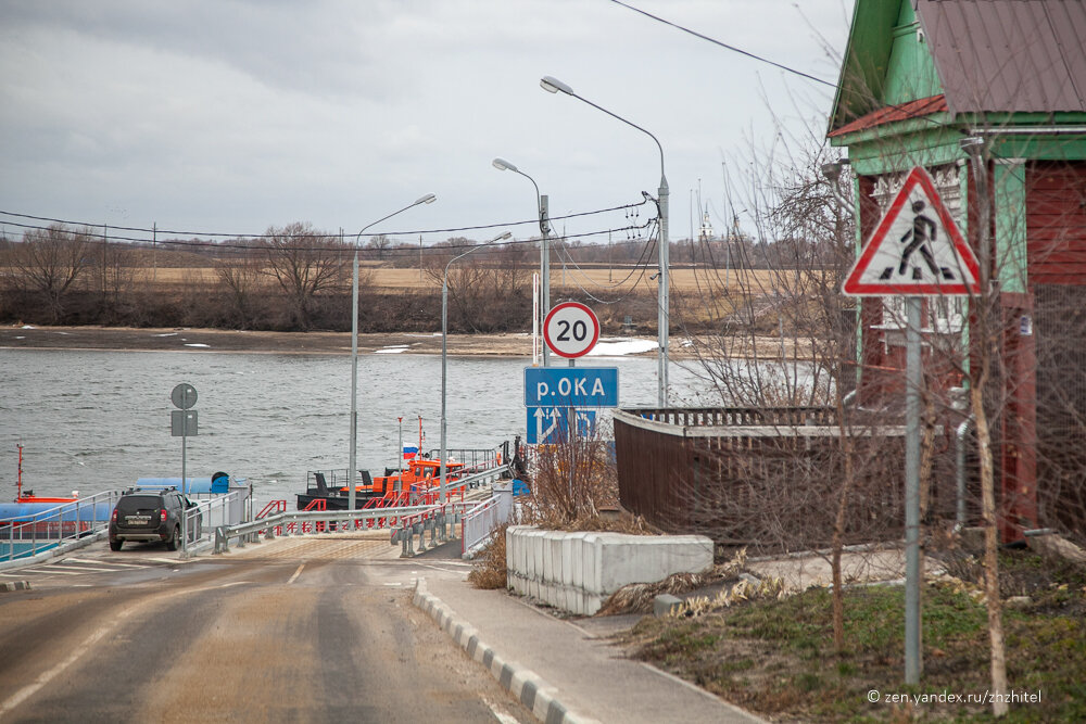
[[[765,551],[829,545],[853,455],[846,543],[904,535],[904,425],[851,425],[833,408],[615,414],[622,506],[659,528]],[[952,480],[942,455],[933,478]],[[931,507],[954,510],[933,487]],[[951,493],[952,494],[952,493]]]

